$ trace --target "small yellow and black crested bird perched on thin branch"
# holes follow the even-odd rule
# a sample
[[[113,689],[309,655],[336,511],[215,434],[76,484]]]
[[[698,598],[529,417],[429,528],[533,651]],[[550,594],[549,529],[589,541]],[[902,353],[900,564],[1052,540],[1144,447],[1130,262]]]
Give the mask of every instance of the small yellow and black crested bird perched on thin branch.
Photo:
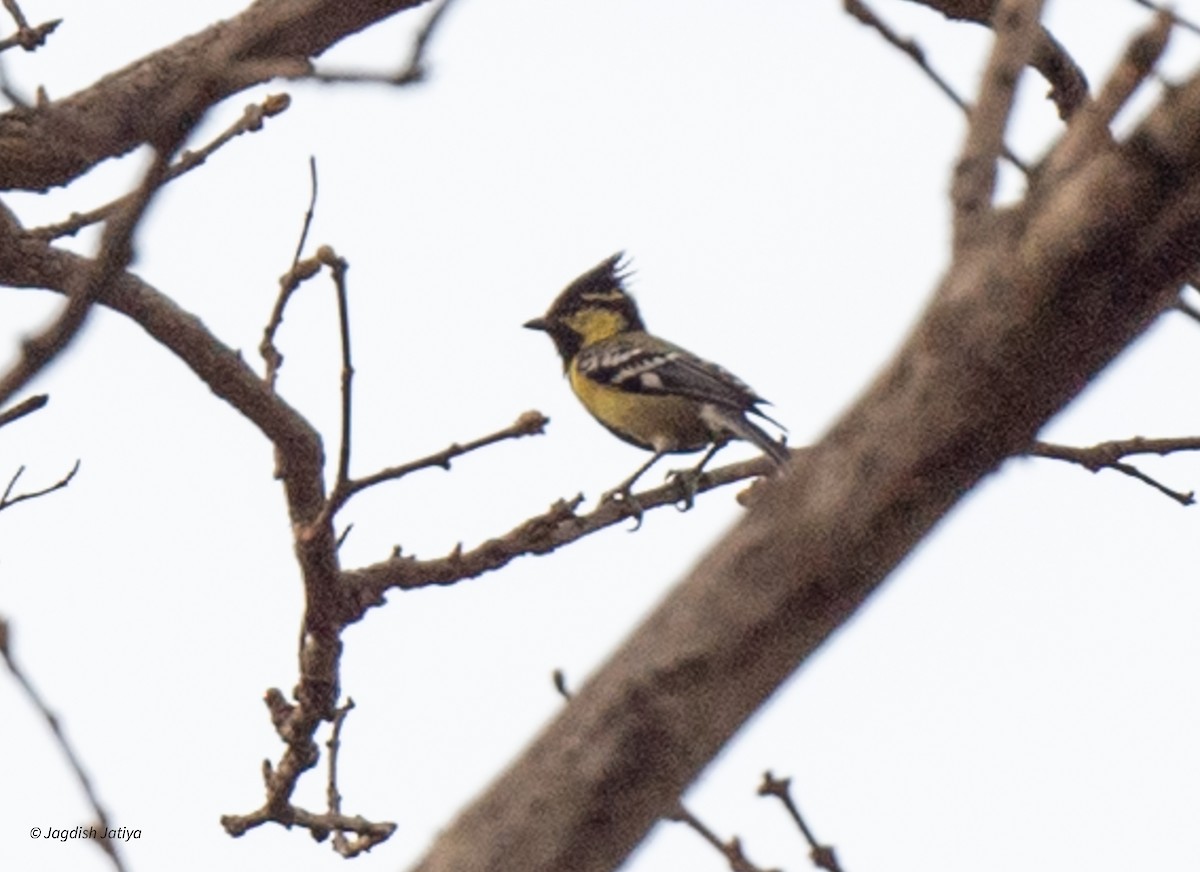
[[[766,399],[726,369],[646,330],[625,288],[629,276],[625,254],[618,252],[568,284],[545,315],[524,326],[550,335],[571,390],[593,417],[653,452],[601,498],[625,501],[640,524],[634,483],[665,455],[708,449],[694,469],[668,474],[683,486],[684,510],[692,505],[704,465],[731,439],[752,443],[778,465],[790,455],[782,440],[749,417],[785,429],[758,408],[769,405]]]

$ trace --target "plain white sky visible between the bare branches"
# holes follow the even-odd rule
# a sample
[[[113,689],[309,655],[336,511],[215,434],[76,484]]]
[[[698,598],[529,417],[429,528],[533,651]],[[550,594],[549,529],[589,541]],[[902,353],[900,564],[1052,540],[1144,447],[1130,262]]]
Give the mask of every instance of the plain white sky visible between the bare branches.
[[[65,96],[241,2],[26,0],[65,24],[8,74]],[[965,94],[988,34],[912,4],[877,12],[919,37]],[[1200,1],[1177,4],[1200,17]],[[1050,4],[1093,84],[1147,13],[1130,0]],[[348,41],[329,65],[383,70],[418,16]],[[7,28],[0,28],[7,32]],[[1181,77],[1200,43],[1177,35]],[[428,85],[278,83],[293,107],[173,184],[138,235],[136,270],[257,359],[292,257],[316,155],[310,246],[350,260],[358,378],[354,471],[490,433],[529,408],[546,437],[500,445],[353,501],[347,566],[392,545],[420,557],[503,533],[553,500],[595,498],[643,459],[571,399],[542,336],[558,290],[628,249],[650,327],[774,402],[794,444],[834,420],[917,317],[947,259],[956,110],[913,64],[822,2],[464,0]],[[1027,78],[1010,144],[1057,132]],[[30,225],[124,191],[136,155],[67,191],[6,198]],[[1014,186],[1019,180],[1009,180]],[[1016,191],[1013,187],[1012,191]],[[95,236],[73,245],[89,249]],[[0,365],[59,300],[0,295]],[[336,446],[329,283],[281,335],[282,390]],[[1200,434],[1200,329],[1165,318],[1046,432],[1074,444]],[[98,312],[32,390],[50,405],[0,431],[0,480],[83,468],[62,493],[0,515],[0,613],[61,716],[133,870],[404,868],[560,708],[737,517],[733,489],[446,590],[392,595],[346,636],[346,811],[400,824],[350,861],[300,831],[228,838],[277,758],[262,694],[295,681],[301,607],[270,450],[163,349]],[[748,449],[740,449],[749,455]],[[731,449],[728,457],[734,457]],[[678,465],[678,464],[676,464]],[[1139,461],[1178,489],[1200,462]],[[1200,515],[1116,473],[1008,464],[936,530],[688,794],[763,867],[808,868],[798,834],[755,796],[792,776],[847,870],[976,872],[1200,867]],[[0,865],[109,868],[32,826],[89,820],[36,714],[0,676]],[[302,782],[320,807],[324,774]],[[722,870],[666,824],[632,872]]]

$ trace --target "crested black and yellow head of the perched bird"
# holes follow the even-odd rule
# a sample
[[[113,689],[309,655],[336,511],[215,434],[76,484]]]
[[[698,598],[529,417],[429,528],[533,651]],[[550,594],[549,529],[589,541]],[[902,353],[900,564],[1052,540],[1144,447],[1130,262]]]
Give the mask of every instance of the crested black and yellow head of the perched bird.
[[[541,318],[526,321],[530,330],[550,333],[565,368],[584,345],[631,330],[644,330],[637,303],[623,284],[629,265],[624,252],[592,267],[566,285]]]

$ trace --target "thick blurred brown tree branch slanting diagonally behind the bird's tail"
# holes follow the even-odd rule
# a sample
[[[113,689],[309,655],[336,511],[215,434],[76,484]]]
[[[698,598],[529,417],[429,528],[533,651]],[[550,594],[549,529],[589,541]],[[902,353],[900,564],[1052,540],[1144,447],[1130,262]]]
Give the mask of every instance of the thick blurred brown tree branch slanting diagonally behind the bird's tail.
[[[958,500],[1172,305],[1198,249],[1200,77],[956,252],[866,392],[415,868],[618,866]]]

